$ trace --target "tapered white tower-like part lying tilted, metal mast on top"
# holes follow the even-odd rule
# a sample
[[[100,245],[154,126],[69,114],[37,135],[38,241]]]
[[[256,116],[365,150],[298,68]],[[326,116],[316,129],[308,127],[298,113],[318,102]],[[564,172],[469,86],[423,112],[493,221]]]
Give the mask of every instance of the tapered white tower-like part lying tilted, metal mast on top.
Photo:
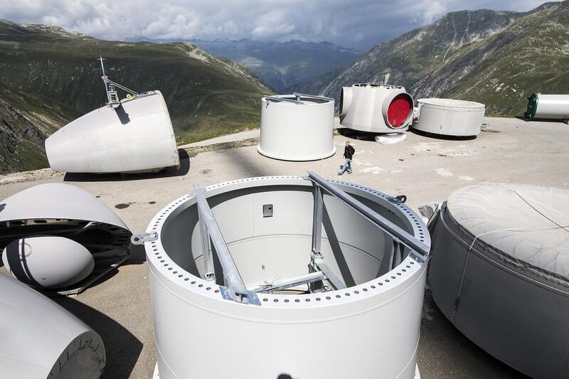
[[[54,171],[159,171],[179,164],[174,129],[160,91],[100,107],[46,139]]]

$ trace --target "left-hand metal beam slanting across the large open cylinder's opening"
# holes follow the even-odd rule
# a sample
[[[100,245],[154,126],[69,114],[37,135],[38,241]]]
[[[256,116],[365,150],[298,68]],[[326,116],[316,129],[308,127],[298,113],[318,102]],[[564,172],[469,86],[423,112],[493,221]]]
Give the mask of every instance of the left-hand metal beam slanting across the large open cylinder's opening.
[[[215,250],[221,267],[223,268],[223,279],[225,279],[227,288],[220,288],[222,296],[225,299],[231,299],[244,304],[261,305],[257,294],[253,291],[248,291],[245,287],[227,244],[225,240],[223,240],[223,235],[216,223],[216,218],[213,217],[211,208],[209,208],[208,202],[206,201],[203,188],[200,186],[196,186],[196,199],[198,201],[198,211],[201,216],[200,223],[203,221],[206,225],[207,233],[211,239],[211,245],[213,245],[213,250]]]

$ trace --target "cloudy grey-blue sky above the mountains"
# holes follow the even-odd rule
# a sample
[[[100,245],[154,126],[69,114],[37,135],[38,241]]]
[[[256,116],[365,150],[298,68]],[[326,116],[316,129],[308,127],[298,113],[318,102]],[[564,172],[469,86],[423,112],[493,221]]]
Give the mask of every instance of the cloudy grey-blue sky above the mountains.
[[[330,41],[367,50],[449,11],[528,11],[545,0],[0,0],[0,18],[97,38]]]

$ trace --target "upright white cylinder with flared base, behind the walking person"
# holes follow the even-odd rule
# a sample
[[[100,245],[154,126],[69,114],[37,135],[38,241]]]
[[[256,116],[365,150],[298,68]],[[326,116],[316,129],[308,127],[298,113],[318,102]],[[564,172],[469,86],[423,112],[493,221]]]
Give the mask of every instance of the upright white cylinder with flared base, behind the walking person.
[[[257,151],[285,161],[313,161],[336,153],[334,100],[324,97],[277,95],[261,100],[261,138]]]

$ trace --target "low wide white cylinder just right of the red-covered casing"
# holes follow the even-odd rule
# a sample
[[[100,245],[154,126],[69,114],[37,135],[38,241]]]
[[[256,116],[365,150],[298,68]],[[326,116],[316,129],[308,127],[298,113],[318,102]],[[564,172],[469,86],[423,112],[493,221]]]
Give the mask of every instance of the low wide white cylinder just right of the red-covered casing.
[[[413,129],[447,136],[477,136],[484,121],[484,104],[452,99],[419,99],[419,120]]]

